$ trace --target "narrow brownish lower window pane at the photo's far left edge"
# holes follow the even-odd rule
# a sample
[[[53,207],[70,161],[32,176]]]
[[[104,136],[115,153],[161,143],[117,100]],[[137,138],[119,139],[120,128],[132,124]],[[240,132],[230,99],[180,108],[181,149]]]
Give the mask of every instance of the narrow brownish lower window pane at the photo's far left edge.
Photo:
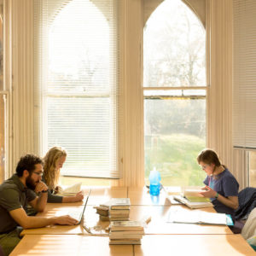
[[[6,96],[0,95],[0,183],[4,179]]]

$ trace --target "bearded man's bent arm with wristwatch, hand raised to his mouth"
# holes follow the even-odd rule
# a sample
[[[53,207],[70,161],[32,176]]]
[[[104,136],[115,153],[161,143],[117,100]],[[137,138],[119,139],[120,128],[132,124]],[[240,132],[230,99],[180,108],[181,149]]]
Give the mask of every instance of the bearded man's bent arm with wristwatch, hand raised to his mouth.
[[[48,187],[45,183],[39,182],[36,186],[35,192],[39,194],[34,200],[29,201],[29,204],[38,212],[44,212],[44,208],[48,198]]]

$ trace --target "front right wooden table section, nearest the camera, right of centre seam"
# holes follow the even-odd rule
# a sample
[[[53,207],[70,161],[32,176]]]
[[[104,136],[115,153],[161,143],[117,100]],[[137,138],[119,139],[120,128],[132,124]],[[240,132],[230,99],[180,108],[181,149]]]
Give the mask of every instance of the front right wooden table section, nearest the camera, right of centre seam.
[[[165,235],[144,236],[142,245],[134,245],[135,256],[236,256],[255,255],[241,235]]]

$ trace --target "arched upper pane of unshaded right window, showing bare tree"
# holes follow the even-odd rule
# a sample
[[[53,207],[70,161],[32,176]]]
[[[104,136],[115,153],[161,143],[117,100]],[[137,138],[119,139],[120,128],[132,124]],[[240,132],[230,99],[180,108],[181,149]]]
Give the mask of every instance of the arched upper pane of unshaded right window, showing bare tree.
[[[180,0],[166,0],[143,34],[144,87],[206,85],[206,32]]]

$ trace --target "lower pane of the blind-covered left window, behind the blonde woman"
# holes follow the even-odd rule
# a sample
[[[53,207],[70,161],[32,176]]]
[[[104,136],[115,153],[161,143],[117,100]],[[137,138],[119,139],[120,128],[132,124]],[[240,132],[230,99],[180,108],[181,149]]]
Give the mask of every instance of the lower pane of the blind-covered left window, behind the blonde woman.
[[[48,145],[67,149],[61,173],[81,177],[111,177],[112,152],[109,98],[48,99]],[[103,171],[103,172],[102,172]]]

